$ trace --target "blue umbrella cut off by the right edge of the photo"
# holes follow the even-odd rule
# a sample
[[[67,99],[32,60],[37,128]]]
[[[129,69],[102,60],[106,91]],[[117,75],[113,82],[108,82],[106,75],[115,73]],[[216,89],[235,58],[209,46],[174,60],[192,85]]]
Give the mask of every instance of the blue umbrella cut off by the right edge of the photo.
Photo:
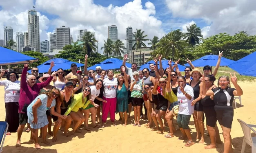
[[[228,65],[240,75],[256,77],[256,52]]]

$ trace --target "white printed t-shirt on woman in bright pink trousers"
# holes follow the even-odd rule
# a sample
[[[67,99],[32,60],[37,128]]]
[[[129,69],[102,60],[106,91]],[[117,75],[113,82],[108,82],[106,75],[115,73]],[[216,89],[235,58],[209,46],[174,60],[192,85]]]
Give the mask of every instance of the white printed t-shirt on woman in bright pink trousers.
[[[105,88],[104,97],[115,98],[117,89],[117,78],[109,80],[109,78],[104,79],[103,85]]]

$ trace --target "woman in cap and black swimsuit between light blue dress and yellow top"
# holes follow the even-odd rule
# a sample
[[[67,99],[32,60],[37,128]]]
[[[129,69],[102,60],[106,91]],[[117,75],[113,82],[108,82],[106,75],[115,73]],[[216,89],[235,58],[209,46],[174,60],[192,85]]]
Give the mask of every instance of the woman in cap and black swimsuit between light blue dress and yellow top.
[[[56,107],[55,110],[59,113],[64,115],[65,112],[67,111],[68,105],[71,104],[71,99],[73,97],[73,83],[72,82],[67,82],[65,84],[64,90],[60,91],[60,101],[56,102]],[[57,132],[59,129],[61,131],[64,131],[64,136],[70,137],[69,134],[67,134],[67,131],[69,127],[65,126],[65,124],[71,124],[72,118],[70,115],[67,116],[65,120],[62,120],[61,118],[58,118],[57,116],[52,116],[53,122],[55,122],[55,125],[53,127],[53,138],[52,142],[57,141]],[[61,125],[61,128],[60,128]]]

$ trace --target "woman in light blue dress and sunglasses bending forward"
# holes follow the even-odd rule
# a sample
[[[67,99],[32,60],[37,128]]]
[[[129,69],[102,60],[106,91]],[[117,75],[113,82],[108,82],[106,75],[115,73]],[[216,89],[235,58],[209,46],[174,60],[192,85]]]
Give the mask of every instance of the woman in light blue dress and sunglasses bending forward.
[[[50,110],[51,114],[58,116],[60,118],[67,118],[65,115],[60,115],[54,111],[54,106],[56,105],[56,98],[58,101],[60,90],[52,89],[50,92],[41,94],[32,101],[32,103],[27,107],[28,122],[32,128],[33,141],[35,143],[36,149],[41,149],[41,146],[38,144],[38,129],[42,128],[42,143],[50,144],[46,140],[48,119],[46,111]]]

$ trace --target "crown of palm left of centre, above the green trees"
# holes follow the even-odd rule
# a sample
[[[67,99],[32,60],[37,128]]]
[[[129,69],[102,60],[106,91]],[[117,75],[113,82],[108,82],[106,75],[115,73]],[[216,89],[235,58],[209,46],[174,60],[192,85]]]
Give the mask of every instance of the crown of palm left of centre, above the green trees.
[[[86,31],[84,37],[82,37],[82,40],[80,40],[82,44],[82,50],[85,52],[85,54],[88,54],[89,56],[91,53],[96,51],[96,42],[97,40],[95,39],[93,33],[90,31]]]

